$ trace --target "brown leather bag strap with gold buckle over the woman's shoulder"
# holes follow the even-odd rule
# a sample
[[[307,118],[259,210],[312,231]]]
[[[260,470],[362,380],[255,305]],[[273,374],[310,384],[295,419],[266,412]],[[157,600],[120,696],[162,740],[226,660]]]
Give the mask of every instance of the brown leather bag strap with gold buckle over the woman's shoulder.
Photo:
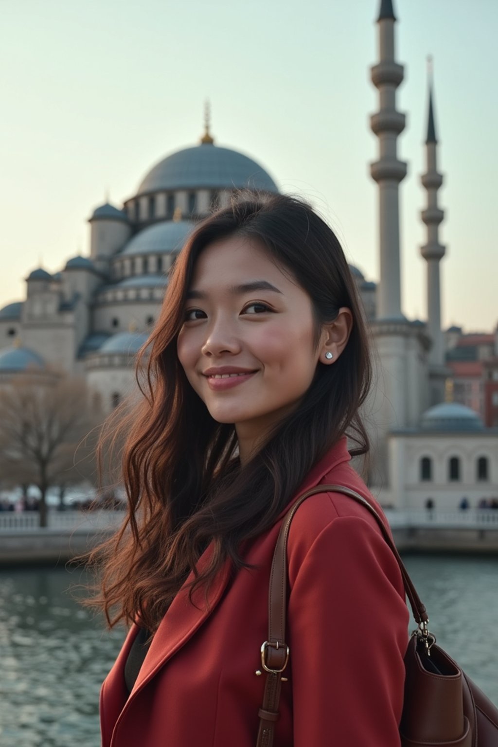
[[[429,620],[426,607],[420,601],[419,595],[399,556],[396,545],[394,545],[393,540],[390,538],[384,521],[382,521],[376,509],[374,509],[366,498],[363,498],[355,490],[341,485],[317,485],[300,495],[284,516],[273,554],[270,573],[270,594],[268,598],[268,640],[261,646],[261,663],[267,672],[267,680],[264,687],[263,706],[259,710],[260,723],[256,747],[272,747],[273,745],[275,722],[278,719],[281,676],[289,658],[289,649],[285,643],[285,616],[287,612],[287,537],[289,536],[290,524],[303,500],[316,493],[329,492],[348,495],[349,498],[358,501],[358,503],[361,503],[362,506],[365,506],[370,511],[379,524],[382,535],[399,565],[414,619],[417,623],[428,622]]]

